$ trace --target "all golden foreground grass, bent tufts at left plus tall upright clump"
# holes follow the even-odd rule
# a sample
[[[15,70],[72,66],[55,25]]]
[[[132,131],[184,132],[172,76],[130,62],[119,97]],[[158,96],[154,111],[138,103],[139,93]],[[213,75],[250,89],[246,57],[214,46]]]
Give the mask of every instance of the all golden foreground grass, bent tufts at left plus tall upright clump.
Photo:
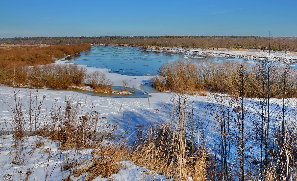
[[[145,137],[138,139],[136,142],[139,144],[133,147],[127,144],[127,140],[111,141],[105,146],[96,147],[94,155],[80,163],[83,166],[75,169],[73,175],[78,177],[88,172],[87,181],[99,175],[102,178],[110,177],[111,174],[124,169],[121,161],[131,160],[136,165],[152,170],[147,172],[150,175],[167,175],[168,178],[181,181],[187,181],[189,176],[194,181],[206,180],[208,169],[206,150],[201,147],[199,152],[189,155],[185,142],[179,140],[184,139],[181,135],[177,135],[178,132],[172,133],[173,135],[167,138],[168,132],[164,129],[168,129],[168,125],[159,125],[159,129],[161,130],[155,130],[158,133],[149,132]],[[69,180],[69,176],[65,177],[65,180]]]

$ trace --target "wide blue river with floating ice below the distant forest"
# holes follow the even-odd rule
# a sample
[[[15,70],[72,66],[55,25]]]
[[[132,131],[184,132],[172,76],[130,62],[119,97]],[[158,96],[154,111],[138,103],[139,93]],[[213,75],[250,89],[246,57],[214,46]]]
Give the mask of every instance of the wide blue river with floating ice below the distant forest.
[[[175,52],[142,49],[131,46],[92,46],[87,52],[67,57],[72,63],[92,67],[109,68],[111,73],[122,75],[152,75],[165,61],[177,59],[193,62],[242,62],[239,58],[199,56]]]

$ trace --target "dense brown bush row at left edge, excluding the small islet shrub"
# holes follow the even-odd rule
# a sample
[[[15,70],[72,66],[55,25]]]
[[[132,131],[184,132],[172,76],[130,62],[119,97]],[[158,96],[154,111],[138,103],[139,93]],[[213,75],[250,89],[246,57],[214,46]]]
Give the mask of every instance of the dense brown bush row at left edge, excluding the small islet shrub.
[[[86,68],[72,64],[48,64],[34,67],[15,67],[2,73],[3,84],[32,88],[48,87],[67,89],[71,85],[81,85],[86,77]]]

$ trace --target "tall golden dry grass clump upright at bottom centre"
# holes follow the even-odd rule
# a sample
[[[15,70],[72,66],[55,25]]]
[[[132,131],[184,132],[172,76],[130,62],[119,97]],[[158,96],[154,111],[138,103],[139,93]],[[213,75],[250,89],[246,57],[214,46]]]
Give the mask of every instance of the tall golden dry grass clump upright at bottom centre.
[[[183,129],[176,130],[164,123],[148,127],[145,132],[135,142],[131,156],[135,164],[173,180],[187,181],[188,177],[194,181],[206,180],[208,153],[201,145],[199,152],[190,155]]]

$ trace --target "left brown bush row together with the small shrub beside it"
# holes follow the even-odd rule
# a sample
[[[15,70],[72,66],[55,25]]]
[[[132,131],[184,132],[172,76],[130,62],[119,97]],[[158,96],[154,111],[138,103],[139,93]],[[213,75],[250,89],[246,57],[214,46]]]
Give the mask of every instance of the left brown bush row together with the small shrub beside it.
[[[69,89],[70,86],[90,86],[97,92],[114,92],[113,82],[105,74],[68,63],[14,67],[0,72],[0,83],[31,88]]]

